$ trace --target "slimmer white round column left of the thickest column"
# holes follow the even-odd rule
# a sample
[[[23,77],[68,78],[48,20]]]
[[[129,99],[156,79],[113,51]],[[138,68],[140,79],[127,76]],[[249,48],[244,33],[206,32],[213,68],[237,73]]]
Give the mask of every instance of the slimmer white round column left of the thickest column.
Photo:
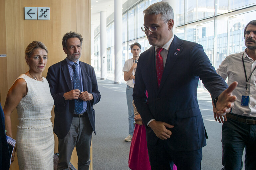
[[[101,80],[107,78],[107,20],[106,11],[100,12],[101,31]]]

